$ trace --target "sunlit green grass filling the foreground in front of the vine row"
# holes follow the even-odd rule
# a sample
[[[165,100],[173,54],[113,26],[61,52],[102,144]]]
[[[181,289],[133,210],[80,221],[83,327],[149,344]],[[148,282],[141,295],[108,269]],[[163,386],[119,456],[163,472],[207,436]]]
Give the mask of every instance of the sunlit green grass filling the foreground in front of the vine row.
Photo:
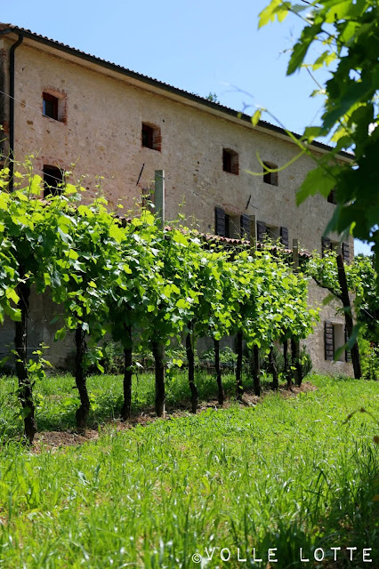
[[[311,380],[318,390],[298,397],[272,394],[254,408],[232,405],[124,431],[109,425],[97,441],[55,452],[4,444],[0,567],[266,567],[270,548],[278,569],[378,567],[378,426],[368,413],[345,423],[361,407],[377,415],[378,383]],[[116,411],[119,385],[92,381],[96,402]],[[143,402],[151,401],[150,383],[139,384]],[[173,381],[173,399],[180,385]],[[41,424],[54,423],[56,397],[64,400],[71,387],[69,377],[38,386]],[[342,548],[336,563],[331,547]],[[346,547],[357,547],[352,562]],[[238,562],[238,548],[246,562]],[[310,560],[322,548],[326,559],[302,564],[300,548]],[[364,548],[373,548],[370,565]],[[210,561],[206,549],[209,557],[214,549]]]

